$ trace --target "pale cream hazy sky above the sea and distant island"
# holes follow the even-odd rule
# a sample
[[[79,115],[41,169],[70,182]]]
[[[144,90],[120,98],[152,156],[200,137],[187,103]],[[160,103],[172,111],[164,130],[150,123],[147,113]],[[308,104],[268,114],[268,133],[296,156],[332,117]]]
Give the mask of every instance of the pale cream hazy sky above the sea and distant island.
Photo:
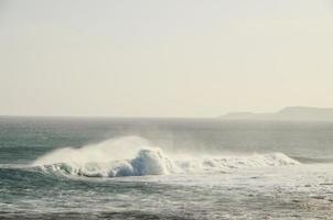
[[[0,0],[0,114],[333,107],[331,0]]]

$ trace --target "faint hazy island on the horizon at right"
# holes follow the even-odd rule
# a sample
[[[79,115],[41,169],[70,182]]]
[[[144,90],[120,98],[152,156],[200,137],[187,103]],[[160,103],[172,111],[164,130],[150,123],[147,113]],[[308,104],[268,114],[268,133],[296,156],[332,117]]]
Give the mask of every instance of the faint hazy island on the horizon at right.
[[[224,120],[333,121],[333,108],[287,107],[273,113],[230,112]]]

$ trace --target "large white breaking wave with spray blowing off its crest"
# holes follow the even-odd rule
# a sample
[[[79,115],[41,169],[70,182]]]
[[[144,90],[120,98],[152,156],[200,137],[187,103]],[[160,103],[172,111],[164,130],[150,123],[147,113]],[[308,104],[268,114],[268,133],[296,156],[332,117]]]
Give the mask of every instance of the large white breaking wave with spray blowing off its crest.
[[[250,155],[164,154],[144,139],[127,136],[87,145],[66,147],[37,158],[33,165],[47,173],[86,177],[119,177],[165,174],[224,173],[243,167],[296,165],[282,153]]]

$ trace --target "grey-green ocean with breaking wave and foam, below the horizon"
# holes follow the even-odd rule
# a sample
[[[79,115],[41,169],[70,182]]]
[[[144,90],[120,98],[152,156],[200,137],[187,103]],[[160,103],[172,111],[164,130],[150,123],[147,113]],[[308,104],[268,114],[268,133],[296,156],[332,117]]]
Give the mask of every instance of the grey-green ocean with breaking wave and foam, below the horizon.
[[[0,219],[333,219],[333,122],[0,117]]]

